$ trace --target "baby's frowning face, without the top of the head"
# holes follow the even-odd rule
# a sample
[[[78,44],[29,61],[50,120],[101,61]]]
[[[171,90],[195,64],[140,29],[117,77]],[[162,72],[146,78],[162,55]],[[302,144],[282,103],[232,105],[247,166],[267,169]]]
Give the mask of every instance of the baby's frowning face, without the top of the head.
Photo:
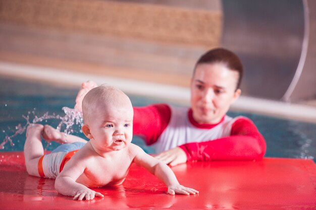
[[[130,103],[98,105],[89,123],[91,144],[98,150],[118,151],[127,147],[133,136],[133,107]]]

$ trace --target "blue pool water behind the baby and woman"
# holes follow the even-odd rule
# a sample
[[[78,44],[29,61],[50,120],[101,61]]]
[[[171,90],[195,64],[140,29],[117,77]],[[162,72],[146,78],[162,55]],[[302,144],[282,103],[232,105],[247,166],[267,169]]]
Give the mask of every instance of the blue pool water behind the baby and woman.
[[[65,88],[61,85],[45,84],[43,82],[29,82],[12,78],[0,78],[0,143],[6,135],[12,135],[18,124],[26,124],[22,117],[29,115],[33,119],[32,112],[37,116],[44,113],[65,115],[62,108],[73,108],[78,88]],[[129,95],[134,106],[145,106],[165,101],[150,97]],[[173,105],[177,105],[174,104]],[[284,158],[308,158],[315,161],[316,157],[316,124],[295,120],[286,120],[264,115],[245,112],[229,112],[229,116],[243,115],[250,118],[264,135],[267,142],[266,157]],[[60,120],[48,119],[43,124],[57,126]],[[65,129],[65,128],[64,128]],[[84,137],[80,127],[73,127],[74,134]],[[25,132],[15,136],[14,146],[10,143],[5,145],[5,151],[23,151]],[[147,153],[154,153],[151,147],[146,146],[139,137],[133,137],[133,143],[139,145]],[[43,141],[44,145],[47,145]],[[45,148],[53,150],[58,146],[52,142]]]

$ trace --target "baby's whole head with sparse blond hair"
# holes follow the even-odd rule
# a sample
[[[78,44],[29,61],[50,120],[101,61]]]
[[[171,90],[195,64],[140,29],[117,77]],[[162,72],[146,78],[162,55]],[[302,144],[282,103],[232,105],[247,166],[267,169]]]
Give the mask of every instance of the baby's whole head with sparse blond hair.
[[[82,131],[99,149],[120,150],[131,142],[133,107],[121,90],[108,85],[93,88],[83,98],[82,113]]]

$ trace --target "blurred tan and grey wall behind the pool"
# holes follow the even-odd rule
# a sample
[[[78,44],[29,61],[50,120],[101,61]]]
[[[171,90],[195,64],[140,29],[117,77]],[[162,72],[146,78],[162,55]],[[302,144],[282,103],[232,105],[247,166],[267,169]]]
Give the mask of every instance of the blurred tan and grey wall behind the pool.
[[[198,57],[227,47],[243,95],[314,100],[315,12],[312,0],[0,0],[0,60],[188,87]]]

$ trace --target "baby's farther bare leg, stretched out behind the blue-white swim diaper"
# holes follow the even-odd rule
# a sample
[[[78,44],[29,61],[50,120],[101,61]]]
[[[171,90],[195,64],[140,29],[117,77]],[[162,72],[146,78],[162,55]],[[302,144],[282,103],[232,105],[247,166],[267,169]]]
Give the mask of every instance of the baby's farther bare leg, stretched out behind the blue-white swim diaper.
[[[87,141],[83,138],[80,138],[76,135],[70,135],[70,134],[65,134],[64,132],[61,132],[54,127],[51,127],[50,125],[44,125],[44,131],[43,131],[43,138],[46,141],[55,141],[60,144],[71,144],[74,142],[84,142],[86,143]]]

